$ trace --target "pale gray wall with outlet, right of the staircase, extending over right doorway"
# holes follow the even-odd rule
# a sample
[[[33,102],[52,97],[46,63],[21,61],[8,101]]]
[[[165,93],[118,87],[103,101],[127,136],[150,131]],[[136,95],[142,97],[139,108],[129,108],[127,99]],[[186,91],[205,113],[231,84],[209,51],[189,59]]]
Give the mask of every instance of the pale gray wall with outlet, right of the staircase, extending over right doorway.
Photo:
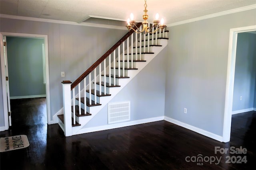
[[[168,28],[165,116],[222,136],[230,29],[250,25],[255,9]]]

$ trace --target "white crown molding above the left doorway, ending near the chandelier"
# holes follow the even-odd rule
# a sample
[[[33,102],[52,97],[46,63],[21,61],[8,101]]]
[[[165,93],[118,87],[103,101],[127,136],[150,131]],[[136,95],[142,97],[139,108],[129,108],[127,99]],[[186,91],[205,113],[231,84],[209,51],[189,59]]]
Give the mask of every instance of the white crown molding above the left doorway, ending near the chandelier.
[[[71,22],[71,21],[59,21],[59,20],[49,20],[49,19],[42,19],[42,18],[23,17],[23,16],[11,16],[11,15],[5,15],[5,14],[0,14],[0,18],[127,30],[126,27],[115,26],[115,25],[105,25],[105,24],[98,24],[98,23],[76,23],[76,22]]]

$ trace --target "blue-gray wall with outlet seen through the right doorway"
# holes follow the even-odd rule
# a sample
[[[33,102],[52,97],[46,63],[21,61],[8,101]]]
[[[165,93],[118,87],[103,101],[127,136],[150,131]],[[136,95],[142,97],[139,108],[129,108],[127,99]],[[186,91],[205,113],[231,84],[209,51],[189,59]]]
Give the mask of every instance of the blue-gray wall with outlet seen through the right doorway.
[[[254,106],[255,80],[256,34],[238,33],[232,111]]]

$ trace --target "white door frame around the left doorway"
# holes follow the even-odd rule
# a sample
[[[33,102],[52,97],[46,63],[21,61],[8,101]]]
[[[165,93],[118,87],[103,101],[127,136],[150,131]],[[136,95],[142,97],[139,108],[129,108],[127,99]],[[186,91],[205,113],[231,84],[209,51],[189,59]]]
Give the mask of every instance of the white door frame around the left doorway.
[[[49,81],[49,59],[48,59],[48,36],[47,35],[40,35],[40,34],[26,34],[26,33],[7,33],[7,32],[1,32],[3,36],[12,36],[12,37],[27,37],[27,38],[40,38],[44,39],[44,54],[45,54],[45,78],[46,78],[46,111],[47,111],[47,123],[51,124],[51,114],[50,114],[50,81]],[[0,42],[0,45],[2,45],[3,42]],[[7,42],[8,43],[8,42]],[[2,53],[1,53],[2,56]],[[2,68],[4,64],[2,64],[2,57],[1,57],[1,72],[2,75],[5,74],[5,71],[3,72],[4,68]],[[2,82],[5,84],[5,76],[2,76]],[[9,129],[8,125],[8,109],[7,107],[7,97],[6,95],[6,88],[5,86],[3,88],[3,102],[4,102],[4,125],[5,130]],[[7,118],[6,118],[7,116]]]

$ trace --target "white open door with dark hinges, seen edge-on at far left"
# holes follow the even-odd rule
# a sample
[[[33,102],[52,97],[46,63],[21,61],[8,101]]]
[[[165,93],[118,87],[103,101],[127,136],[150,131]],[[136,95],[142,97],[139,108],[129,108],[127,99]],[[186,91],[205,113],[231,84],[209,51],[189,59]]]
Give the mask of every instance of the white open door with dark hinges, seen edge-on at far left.
[[[11,108],[10,108],[10,92],[9,92],[9,78],[8,78],[8,64],[7,64],[7,48],[6,37],[0,33],[0,59],[1,59],[1,74],[2,74],[2,90],[3,90],[3,104],[4,104],[4,125],[5,130],[12,125]]]

